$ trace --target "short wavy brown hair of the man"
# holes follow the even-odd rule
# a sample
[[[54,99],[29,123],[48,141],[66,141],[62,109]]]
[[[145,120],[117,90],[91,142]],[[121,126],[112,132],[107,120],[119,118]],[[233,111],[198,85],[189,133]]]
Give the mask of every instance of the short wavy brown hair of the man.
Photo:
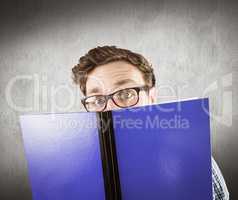
[[[79,84],[81,91],[86,95],[87,76],[97,66],[113,61],[126,61],[137,67],[142,73],[146,84],[155,85],[155,75],[149,62],[140,54],[116,46],[98,46],[88,51],[79,59],[79,63],[72,68],[73,80]]]

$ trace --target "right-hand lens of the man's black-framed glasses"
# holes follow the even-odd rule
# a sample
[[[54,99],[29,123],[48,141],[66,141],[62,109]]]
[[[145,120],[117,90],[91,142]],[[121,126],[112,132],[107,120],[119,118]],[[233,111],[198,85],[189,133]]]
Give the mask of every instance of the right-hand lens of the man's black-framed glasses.
[[[138,94],[135,89],[120,90],[113,95],[115,103],[123,108],[134,106],[138,102]]]

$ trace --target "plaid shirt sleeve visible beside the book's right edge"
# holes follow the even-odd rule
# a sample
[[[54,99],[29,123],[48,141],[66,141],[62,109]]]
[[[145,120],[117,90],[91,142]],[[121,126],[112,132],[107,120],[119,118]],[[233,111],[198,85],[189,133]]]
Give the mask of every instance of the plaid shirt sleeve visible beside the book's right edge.
[[[229,192],[226,187],[225,180],[221,171],[212,158],[212,186],[213,186],[213,200],[229,200]]]

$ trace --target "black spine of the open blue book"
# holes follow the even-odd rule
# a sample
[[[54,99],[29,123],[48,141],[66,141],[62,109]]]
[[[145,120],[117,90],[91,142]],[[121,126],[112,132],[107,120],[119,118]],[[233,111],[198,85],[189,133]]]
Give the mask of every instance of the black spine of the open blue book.
[[[106,200],[121,200],[116,144],[111,111],[97,113]]]

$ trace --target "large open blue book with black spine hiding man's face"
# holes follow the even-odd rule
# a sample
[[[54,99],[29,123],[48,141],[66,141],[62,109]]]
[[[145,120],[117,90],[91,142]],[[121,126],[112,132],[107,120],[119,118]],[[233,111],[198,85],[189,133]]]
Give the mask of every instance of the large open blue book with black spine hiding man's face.
[[[212,200],[207,98],[20,124],[33,200]]]

